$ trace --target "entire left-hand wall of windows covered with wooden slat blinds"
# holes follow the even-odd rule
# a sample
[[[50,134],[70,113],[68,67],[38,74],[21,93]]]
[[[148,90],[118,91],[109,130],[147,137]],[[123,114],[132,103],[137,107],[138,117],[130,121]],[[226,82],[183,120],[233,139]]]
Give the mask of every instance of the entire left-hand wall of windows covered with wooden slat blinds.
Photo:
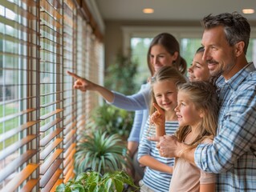
[[[103,76],[84,2],[0,2],[1,191],[55,191],[75,175],[77,133],[100,98],[72,89],[66,71]]]

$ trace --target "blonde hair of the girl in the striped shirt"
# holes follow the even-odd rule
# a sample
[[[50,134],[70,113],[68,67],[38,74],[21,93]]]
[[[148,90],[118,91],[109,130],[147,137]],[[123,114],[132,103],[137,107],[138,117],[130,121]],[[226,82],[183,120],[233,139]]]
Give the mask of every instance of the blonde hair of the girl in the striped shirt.
[[[152,89],[152,86],[156,82],[161,82],[164,80],[173,81],[174,84],[181,84],[186,82],[186,78],[177,68],[173,66],[162,66],[160,70],[156,72],[156,74],[151,78],[151,103],[156,103],[156,98],[154,96],[154,92]],[[150,107],[150,114],[153,114],[155,112],[155,107]]]

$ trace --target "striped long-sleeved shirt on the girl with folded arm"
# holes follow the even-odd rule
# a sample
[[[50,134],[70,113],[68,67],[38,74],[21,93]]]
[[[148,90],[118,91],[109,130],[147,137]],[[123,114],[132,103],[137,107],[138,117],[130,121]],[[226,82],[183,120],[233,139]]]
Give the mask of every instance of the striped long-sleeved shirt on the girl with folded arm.
[[[165,133],[174,134],[179,126],[178,122],[165,122]],[[163,158],[156,149],[156,142],[148,141],[147,137],[156,135],[156,127],[151,125],[149,128],[149,118],[144,128],[143,136],[140,141],[138,159],[144,155],[150,155],[159,162],[173,166],[174,158]],[[164,173],[158,170],[152,170],[146,166],[143,182],[145,186],[157,192],[168,192],[172,174]]]

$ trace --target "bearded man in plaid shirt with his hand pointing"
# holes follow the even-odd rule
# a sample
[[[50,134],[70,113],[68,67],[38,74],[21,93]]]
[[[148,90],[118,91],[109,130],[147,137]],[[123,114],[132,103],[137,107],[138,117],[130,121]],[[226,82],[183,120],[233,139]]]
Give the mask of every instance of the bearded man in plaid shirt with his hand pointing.
[[[149,138],[164,157],[180,157],[217,174],[217,191],[256,191],[256,70],[246,60],[250,24],[242,15],[208,15],[202,46],[217,78],[220,111],[217,136],[209,145],[186,150],[174,136]]]

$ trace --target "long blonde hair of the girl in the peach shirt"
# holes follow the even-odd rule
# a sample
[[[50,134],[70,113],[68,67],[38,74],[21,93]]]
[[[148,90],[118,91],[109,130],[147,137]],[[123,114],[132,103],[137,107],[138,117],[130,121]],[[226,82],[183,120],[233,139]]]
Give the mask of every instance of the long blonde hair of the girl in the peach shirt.
[[[198,127],[197,137],[189,143],[191,148],[196,147],[206,137],[213,138],[217,130],[218,102],[216,88],[210,82],[186,82],[178,85],[178,91],[189,95],[189,99],[195,105],[197,110],[205,114]],[[180,142],[184,142],[186,136],[191,132],[191,126],[180,126],[176,136]]]

